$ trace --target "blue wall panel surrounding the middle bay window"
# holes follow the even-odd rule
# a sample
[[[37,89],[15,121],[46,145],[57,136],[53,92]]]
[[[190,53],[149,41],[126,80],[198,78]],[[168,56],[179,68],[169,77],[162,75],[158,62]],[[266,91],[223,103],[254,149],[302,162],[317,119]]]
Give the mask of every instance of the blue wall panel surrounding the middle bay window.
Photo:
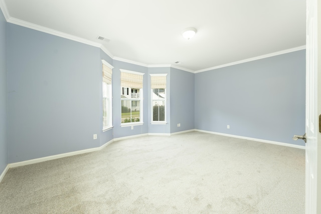
[[[132,135],[138,134],[145,134],[148,132],[148,83],[147,83],[147,67],[134,65],[126,62],[121,62],[117,60],[113,60],[114,69],[112,70],[112,110],[113,110],[113,131],[114,131],[114,138],[119,137],[127,137]],[[135,125],[133,129],[130,126],[121,127],[121,97],[120,97],[120,70],[130,70],[135,72],[143,73],[143,124],[142,125]]]

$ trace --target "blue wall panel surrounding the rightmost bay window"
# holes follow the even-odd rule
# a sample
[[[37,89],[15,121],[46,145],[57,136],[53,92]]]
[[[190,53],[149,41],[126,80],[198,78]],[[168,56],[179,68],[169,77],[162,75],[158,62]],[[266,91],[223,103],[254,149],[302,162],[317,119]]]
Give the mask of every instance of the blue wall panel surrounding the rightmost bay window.
[[[167,74],[166,76],[166,122],[167,124],[151,124],[151,88],[149,74]],[[171,133],[171,68],[148,68],[148,133],[170,134]]]

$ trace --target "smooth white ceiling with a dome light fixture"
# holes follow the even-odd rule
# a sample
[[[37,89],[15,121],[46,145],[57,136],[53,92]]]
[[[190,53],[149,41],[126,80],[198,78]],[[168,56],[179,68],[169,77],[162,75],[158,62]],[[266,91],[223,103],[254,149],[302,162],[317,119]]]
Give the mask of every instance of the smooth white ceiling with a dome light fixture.
[[[305,45],[305,0],[0,1],[12,23],[101,43],[114,59],[147,65],[199,71]],[[198,32],[186,40],[189,27]]]

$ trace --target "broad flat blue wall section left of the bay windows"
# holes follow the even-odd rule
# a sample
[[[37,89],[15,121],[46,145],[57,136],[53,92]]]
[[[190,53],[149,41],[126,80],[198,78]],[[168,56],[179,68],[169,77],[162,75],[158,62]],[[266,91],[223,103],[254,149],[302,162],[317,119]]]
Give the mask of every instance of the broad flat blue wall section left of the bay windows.
[[[100,49],[7,27],[9,163],[100,146]]]

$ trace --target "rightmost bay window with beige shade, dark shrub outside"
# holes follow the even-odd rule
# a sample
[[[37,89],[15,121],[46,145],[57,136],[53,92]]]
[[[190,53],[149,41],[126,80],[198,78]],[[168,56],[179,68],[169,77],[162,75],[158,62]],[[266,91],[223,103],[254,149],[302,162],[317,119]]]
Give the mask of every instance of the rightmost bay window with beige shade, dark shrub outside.
[[[166,75],[150,74],[152,123],[166,123]]]

